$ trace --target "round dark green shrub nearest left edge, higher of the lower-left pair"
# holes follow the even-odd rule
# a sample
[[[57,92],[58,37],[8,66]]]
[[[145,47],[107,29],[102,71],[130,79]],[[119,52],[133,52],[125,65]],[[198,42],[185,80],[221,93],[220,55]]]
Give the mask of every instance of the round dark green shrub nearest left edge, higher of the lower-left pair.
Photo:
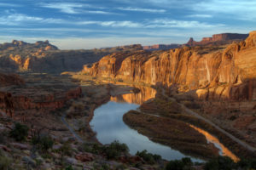
[[[10,137],[16,141],[24,141],[28,135],[29,128],[26,125],[22,125],[19,122],[15,123],[15,128],[10,131]]]

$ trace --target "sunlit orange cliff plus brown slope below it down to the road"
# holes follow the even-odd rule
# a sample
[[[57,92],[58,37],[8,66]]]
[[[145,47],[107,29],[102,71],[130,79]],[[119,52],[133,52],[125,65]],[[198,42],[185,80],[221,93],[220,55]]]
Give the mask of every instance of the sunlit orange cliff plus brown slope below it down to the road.
[[[81,74],[166,88],[166,94],[256,146],[256,31],[229,45],[114,53]],[[142,122],[141,122],[142,123]]]

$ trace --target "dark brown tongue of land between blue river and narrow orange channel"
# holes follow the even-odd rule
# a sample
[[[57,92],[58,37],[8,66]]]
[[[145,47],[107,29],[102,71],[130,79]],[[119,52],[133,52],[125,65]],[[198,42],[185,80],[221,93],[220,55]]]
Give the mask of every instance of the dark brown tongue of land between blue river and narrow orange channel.
[[[183,154],[204,160],[218,156],[218,149],[213,144],[207,144],[207,139],[185,122],[143,114],[139,111],[129,111],[124,115],[123,120],[138,133]]]

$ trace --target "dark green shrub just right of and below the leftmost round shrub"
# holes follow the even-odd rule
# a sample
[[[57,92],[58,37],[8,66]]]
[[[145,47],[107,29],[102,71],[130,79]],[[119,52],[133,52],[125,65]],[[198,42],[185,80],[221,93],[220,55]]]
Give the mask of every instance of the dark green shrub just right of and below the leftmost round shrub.
[[[36,145],[38,149],[45,151],[52,148],[54,140],[48,135],[38,136],[32,138],[32,144]]]

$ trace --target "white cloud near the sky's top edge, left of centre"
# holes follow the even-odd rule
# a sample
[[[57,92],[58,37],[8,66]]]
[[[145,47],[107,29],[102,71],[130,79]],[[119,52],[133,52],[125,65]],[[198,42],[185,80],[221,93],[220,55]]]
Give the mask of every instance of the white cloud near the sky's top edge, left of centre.
[[[82,13],[80,8],[83,8],[85,5],[81,3],[43,3],[40,6],[44,8],[60,9],[62,13],[80,14]],[[88,7],[89,5],[86,6]]]

